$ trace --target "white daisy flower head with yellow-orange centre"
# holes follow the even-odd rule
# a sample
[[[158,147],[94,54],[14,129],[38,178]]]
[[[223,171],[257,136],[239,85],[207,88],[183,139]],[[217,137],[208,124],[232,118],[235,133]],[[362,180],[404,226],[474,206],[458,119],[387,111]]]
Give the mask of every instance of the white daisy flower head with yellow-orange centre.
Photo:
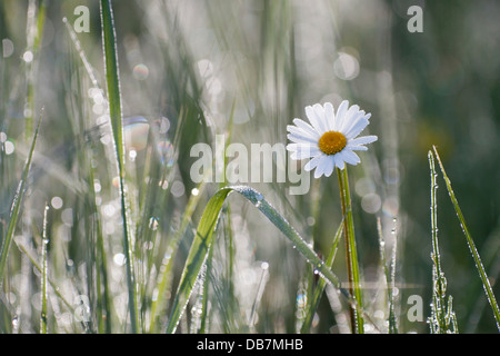
[[[293,125],[287,126],[287,146],[292,159],[311,158],[304,169],[316,168],[314,178],[322,175],[330,177],[337,166],[343,169],[346,164],[358,165],[361,160],[354,151],[366,151],[364,145],[377,140],[377,136],[361,136],[362,130],[370,123],[371,113],[366,113],[359,106],[349,107],[343,100],[337,112],[330,102],[321,106],[316,103],[306,107],[306,115],[311,122],[293,119]]]

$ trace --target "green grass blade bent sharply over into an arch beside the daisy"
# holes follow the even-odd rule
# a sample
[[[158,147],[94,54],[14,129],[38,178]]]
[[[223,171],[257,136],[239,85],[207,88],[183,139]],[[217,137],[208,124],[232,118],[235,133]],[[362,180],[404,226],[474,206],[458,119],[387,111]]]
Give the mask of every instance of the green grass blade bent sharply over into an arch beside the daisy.
[[[349,304],[356,307],[360,314],[364,315],[363,310],[358,307],[356,299],[350,296],[348,290],[340,286],[339,278],[330,268],[328,268],[324,261],[318,257],[314,250],[308,246],[296,229],[263,198],[263,196],[253,188],[236,186],[219,189],[204,208],[172,304],[167,333],[174,333],[177,329],[200,269],[207,259],[222,205],[232,191],[238,191],[258,208],[293,244],[293,246],[296,246],[296,249],[313,266],[318,274],[340,290],[348,299]]]

